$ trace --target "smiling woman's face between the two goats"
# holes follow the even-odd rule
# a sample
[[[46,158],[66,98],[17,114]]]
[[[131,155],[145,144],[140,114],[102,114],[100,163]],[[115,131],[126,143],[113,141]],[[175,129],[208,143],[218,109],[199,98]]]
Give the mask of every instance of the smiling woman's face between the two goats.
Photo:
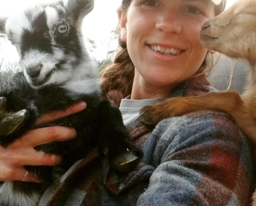
[[[214,17],[209,0],[132,0],[118,16],[137,89],[170,92],[201,66],[207,49],[200,43],[200,30]]]

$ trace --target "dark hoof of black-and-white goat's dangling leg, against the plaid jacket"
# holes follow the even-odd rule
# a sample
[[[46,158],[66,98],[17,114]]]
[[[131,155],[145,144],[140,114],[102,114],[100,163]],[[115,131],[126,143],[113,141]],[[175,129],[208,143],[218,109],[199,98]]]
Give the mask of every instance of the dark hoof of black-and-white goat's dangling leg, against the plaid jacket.
[[[113,166],[118,171],[128,173],[139,163],[140,158],[135,156],[132,152],[123,152],[113,160]]]

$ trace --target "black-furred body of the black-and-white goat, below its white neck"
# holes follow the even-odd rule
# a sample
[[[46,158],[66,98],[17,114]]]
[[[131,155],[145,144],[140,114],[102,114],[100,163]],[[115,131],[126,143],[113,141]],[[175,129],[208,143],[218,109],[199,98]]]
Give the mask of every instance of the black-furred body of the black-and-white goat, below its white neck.
[[[101,94],[80,94],[74,98],[73,94],[57,86],[48,86],[36,90],[27,83],[23,74],[15,74],[8,81],[3,81],[3,78],[1,80],[0,96],[7,98],[7,111],[17,112],[22,109],[29,111],[29,117],[25,125],[18,132],[8,136],[0,136],[2,146],[7,147],[31,129],[60,125],[76,129],[77,138],[67,142],[40,145],[36,149],[46,153],[63,155],[64,161],[59,167],[64,171],[77,160],[84,158],[99,143],[102,150],[110,148],[111,153],[109,152],[108,155],[110,160],[126,148],[140,152],[129,140],[118,108],[108,101],[102,101]],[[60,109],[65,110],[74,102],[82,100],[87,104],[85,110],[51,123],[36,125],[37,119],[42,114]],[[53,167],[26,166],[26,168],[35,173],[44,183],[15,181],[13,182],[14,190],[23,191],[27,195],[33,192],[42,193],[46,187],[53,183]]]

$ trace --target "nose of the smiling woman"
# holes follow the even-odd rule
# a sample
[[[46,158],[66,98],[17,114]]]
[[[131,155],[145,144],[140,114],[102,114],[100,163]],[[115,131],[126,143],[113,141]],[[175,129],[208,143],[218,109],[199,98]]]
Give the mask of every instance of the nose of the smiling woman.
[[[156,28],[164,32],[176,32],[182,31],[182,23],[176,12],[163,12],[156,23]]]

